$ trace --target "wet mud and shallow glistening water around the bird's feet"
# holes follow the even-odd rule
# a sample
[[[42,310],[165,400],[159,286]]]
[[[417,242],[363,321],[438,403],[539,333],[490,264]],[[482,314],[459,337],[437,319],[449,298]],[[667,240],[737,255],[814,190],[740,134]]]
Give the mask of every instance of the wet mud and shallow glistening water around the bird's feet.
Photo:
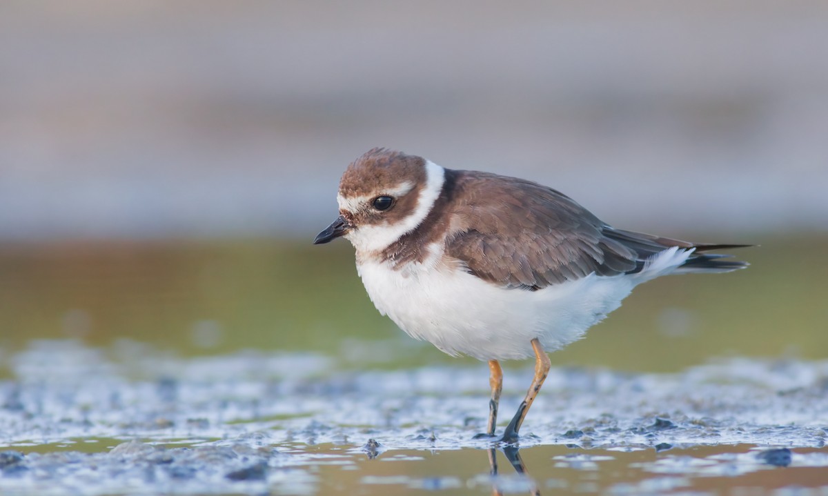
[[[36,341],[9,361],[2,494],[828,494],[824,360],[552,368],[520,450],[472,439],[484,365],[349,371],[126,340]],[[502,412],[531,375],[507,370]]]

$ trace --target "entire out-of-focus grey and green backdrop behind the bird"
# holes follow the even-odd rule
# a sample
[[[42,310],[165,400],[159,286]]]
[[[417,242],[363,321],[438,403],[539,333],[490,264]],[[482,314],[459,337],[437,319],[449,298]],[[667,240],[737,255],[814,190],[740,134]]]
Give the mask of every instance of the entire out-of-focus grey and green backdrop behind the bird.
[[[448,360],[373,310],[336,216],[370,147],[758,243],[553,356],[828,354],[828,3],[3,2],[0,374],[35,339]]]

